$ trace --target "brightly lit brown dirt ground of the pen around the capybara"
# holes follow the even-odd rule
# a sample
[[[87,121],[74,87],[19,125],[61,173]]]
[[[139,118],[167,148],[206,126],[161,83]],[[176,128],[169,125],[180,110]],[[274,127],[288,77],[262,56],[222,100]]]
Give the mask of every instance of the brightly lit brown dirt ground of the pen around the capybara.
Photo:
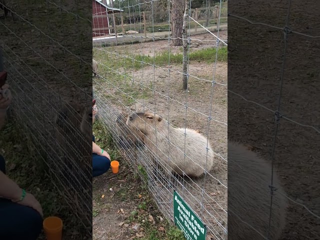
[[[220,36],[222,39],[226,39],[226,33],[226,31],[221,32]],[[196,39],[202,41],[199,41],[199,47],[194,47],[194,49],[214,46],[214,40],[203,41],[212,38],[210,34],[197,35]],[[167,40],[155,41],[154,45],[153,42],[145,42],[142,43],[142,48],[141,43],[137,43],[133,46],[112,47],[112,50],[108,48],[108,51],[126,54],[131,50],[130,48],[135,49],[136,53],[142,50],[144,54],[150,55],[153,54],[154,49],[155,54],[157,54],[167,49]],[[170,48],[172,52],[181,50],[180,47],[172,46]],[[103,75],[104,72],[101,71],[103,70],[100,69],[100,74]],[[127,79],[112,80],[112,85],[100,80],[96,80],[96,84],[94,84],[95,90],[107,97],[107,100],[112,104],[110,107],[121,111],[128,111],[127,108],[139,111],[143,110],[144,105],[144,109],[156,111],[159,115],[168,119],[174,126],[193,128],[205,136],[208,133],[212,149],[217,153],[214,167],[209,172],[209,175],[206,176],[204,185],[203,178],[185,182],[187,189],[185,199],[200,215],[200,205],[196,199],[201,202],[201,188],[203,186],[205,192],[203,197],[205,210],[202,219],[208,228],[212,230],[210,234],[212,236],[215,234],[216,238],[213,239],[222,238],[223,230],[221,225],[223,227],[226,226],[227,211],[227,189],[225,188],[227,186],[227,63],[216,63],[214,79],[217,83],[212,88],[211,81],[213,79],[214,63],[190,62],[189,92],[187,94],[182,90],[182,74],[179,72],[181,71],[181,65],[178,64],[155,67],[154,69],[152,66],[145,66],[138,70],[119,68],[117,71],[122,74],[126,73],[131,77],[133,76],[133,85]],[[105,71],[105,74],[107,74],[107,71]],[[135,101],[126,102],[125,93],[132,94]],[[187,103],[187,110],[185,109],[185,102]],[[209,115],[212,119],[209,121],[208,127]],[[225,160],[218,155],[222,156]],[[110,204],[121,205],[123,202],[112,202]],[[99,231],[104,231],[102,226],[104,220],[109,219],[108,214],[93,218],[94,225],[96,225]],[[214,218],[218,220],[218,223]],[[121,218],[117,219],[119,222],[123,220]],[[93,227],[93,229],[95,228]],[[113,231],[112,229],[108,228],[108,231]],[[117,232],[118,230],[115,230],[113,236]]]

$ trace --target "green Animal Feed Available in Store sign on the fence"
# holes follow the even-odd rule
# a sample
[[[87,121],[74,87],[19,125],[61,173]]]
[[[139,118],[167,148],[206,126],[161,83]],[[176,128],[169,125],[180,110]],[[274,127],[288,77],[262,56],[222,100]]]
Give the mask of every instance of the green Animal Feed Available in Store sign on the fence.
[[[204,223],[176,191],[173,191],[173,215],[175,225],[183,231],[186,240],[205,240]]]

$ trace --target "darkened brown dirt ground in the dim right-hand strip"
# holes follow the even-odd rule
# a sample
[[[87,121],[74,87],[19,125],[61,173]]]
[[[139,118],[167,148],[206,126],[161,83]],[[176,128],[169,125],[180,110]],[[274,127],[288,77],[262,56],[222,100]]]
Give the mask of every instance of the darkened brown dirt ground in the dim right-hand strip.
[[[287,2],[239,2],[229,4],[231,14],[284,27]],[[301,7],[292,1],[289,27],[313,36],[320,35],[317,21],[318,1],[311,0]],[[263,9],[263,10],[262,10]],[[228,89],[276,110],[282,58],[283,31],[265,25],[250,24],[229,16]],[[319,40],[290,33],[287,41],[286,62],[280,113],[275,144],[274,162],[288,200],[286,225],[282,240],[320,239],[319,221]],[[252,145],[262,156],[271,160],[274,140],[274,112],[228,93],[228,137]],[[302,205],[301,205],[302,204]],[[308,211],[303,205],[308,208]]]

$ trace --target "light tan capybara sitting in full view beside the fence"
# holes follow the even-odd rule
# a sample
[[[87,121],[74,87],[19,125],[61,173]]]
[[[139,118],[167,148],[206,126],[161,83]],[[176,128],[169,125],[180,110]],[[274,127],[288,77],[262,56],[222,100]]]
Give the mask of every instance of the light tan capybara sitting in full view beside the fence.
[[[184,128],[172,127],[159,115],[151,112],[131,113],[126,124],[142,138],[156,160],[167,168],[166,176],[174,172],[182,175],[184,171],[189,177],[197,177],[205,170],[211,170],[214,153],[209,142],[207,145],[206,137],[200,133],[186,128],[185,135]]]

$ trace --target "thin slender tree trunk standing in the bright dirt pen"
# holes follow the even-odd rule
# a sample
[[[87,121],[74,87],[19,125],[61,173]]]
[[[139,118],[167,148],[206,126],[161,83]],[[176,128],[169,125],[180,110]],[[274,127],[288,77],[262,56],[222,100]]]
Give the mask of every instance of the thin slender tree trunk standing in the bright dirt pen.
[[[188,21],[188,10],[189,10],[189,0],[185,0],[185,9],[184,9],[184,17],[183,17],[183,25],[182,25],[182,38],[183,38],[183,57],[182,57],[182,88],[183,90],[187,90],[188,88],[188,76],[187,76],[187,63],[188,63],[188,40],[186,38],[186,24]]]

